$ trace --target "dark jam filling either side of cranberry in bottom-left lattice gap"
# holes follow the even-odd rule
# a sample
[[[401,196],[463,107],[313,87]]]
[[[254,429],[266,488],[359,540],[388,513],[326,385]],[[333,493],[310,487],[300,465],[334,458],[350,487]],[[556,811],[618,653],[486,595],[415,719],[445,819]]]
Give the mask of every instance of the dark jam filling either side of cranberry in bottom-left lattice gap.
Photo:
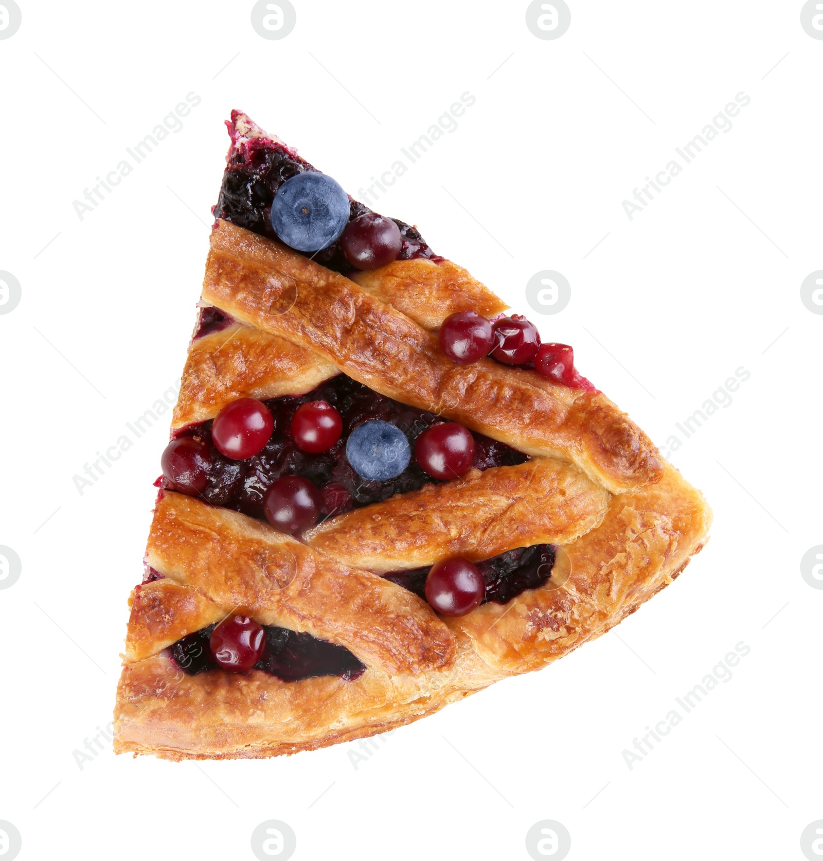
[[[219,668],[209,647],[214,627],[209,625],[195,631],[169,647],[172,660],[187,675],[196,676],[198,672]],[[348,682],[360,678],[366,671],[365,664],[343,646],[288,628],[264,625],[263,630],[266,632],[266,647],[254,668],[284,682],[316,676],[338,676]]]

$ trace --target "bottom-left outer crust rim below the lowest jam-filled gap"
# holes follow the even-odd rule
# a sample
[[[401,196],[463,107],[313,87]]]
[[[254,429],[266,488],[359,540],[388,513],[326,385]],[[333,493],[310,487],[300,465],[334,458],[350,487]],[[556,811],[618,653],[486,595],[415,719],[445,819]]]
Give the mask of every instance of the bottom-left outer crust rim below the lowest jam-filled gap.
[[[261,758],[314,750],[416,721],[495,680],[466,643],[461,672],[435,684],[368,669],[355,681],[282,682],[264,672],[186,676],[162,655],[123,668],[115,753],[162,759]]]

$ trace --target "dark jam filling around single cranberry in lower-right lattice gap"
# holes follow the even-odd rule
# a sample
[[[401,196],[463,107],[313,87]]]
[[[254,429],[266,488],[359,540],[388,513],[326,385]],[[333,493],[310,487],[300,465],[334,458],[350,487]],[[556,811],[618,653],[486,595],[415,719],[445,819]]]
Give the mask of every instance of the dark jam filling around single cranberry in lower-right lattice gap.
[[[554,567],[554,546],[534,544],[531,547],[518,547],[474,564],[486,581],[486,597],[482,603],[493,601],[495,604],[508,604],[521,592],[537,589],[548,581]],[[383,574],[383,577],[414,592],[425,601],[426,577],[430,570],[431,566],[412,568],[409,571]]]

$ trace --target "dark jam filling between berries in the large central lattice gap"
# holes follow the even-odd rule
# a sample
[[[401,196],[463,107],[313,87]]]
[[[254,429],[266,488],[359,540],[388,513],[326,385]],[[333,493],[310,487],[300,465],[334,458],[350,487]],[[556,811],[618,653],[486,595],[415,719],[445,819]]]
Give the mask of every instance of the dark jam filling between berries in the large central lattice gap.
[[[291,419],[297,408],[311,400],[325,400],[343,418],[343,436],[328,451],[307,454],[294,443]],[[320,489],[320,520],[363,505],[389,499],[395,493],[419,490],[426,484],[440,483],[425,473],[412,458],[396,478],[369,481],[361,478],[346,459],[346,439],[358,425],[380,419],[399,427],[414,448],[419,434],[442,420],[431,412],[405,406],[387,398],[362,383],[340,374],[325,381],[312,392],[300,397],[282,397],[265,401],[275,419],[275,431],[257,455],[244,461],[232,461],[220,454],[211,438],[212,422],[187,428],[178,436],[201,437],[211,452],[211,475],[201,499],[210,505],[222,505],[250,517],[264,519],[263,496],[269,486],[284,475],[299,475]],[[529,460],[528,455],[498,443],[489,437],[473,434],[473,467],[515,466]],[[168,486],[164,483],[164,486]]]

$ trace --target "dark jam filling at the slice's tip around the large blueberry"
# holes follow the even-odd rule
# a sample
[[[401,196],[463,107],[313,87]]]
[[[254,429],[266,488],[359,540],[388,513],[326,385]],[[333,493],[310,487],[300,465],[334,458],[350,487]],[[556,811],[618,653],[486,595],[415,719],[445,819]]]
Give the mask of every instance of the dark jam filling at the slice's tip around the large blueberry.
[[[307,170],[317,171],[307,161],[275,144],[273,140],[246,140],[239,151],[232,153],[232,158],[226,164],[220,196],[213,208],[214,217],[276,239],[270,220],[271,201],[287,179]],[[372,210],[365,204],[350,201],[350,221],[370,212]],[[427,257],[437,263],[443,259],[430,249],[415,227],[405,221],[392,220],[399,227],[403,238],[398,260]],[[306,254],[306,257],[343,274],[354,271],[354,267],[343,257],[339,239],[322,251]]]

